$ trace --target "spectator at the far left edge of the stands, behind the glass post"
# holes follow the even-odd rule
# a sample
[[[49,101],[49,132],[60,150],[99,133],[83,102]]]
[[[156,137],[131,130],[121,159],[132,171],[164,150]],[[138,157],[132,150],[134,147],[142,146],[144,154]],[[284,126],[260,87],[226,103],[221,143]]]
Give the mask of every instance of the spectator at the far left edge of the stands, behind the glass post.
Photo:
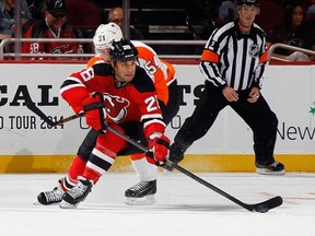
[[[0,39],[11,38],[15,32],[15,0],[0,0]],[[26,0],[21,0],[22,26],[32,19]]]

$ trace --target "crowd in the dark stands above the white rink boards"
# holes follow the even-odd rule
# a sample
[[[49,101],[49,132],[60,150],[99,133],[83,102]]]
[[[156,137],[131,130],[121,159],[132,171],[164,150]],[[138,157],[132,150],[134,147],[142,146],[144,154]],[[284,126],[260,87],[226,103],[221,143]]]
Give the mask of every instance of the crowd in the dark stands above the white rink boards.
[[[260,0],[261,7],[271,0]],[[48,2],[48,4],[47,4]],[[50,3],[49,3],[50,2]],[[55,14],[55,7],[51,5],[60,4],[60,2],[65,4],[65,9],[61,11],[62,14]],[[110,2],[110,1],[106,1]],[[108,5],[113,8],[107,8],[104,1],[98,0],[21,0],[21,17],[22,17],[22,37],[46,37],[49,35],[49,32],[46,34],[38,33],[34,36],[30,33],[30,28],[33,28],[33,24],[38,24],[39,21],[44,22],[52,22],[56,27],[51,26],[48,30],[52,28],[52,36],[47,37],[79,37],[79,38],[92,38],[96,27],[102,23],[115,22],[120,27],[122,27],[122,9],[116,8],[114,2]],[[130,8],[132,9],[133,2],[130,2]],[[141,1],[139,1],[141,3]],[[154,2],[154,1],[152,1]],[[153,5],[153,3],[151,4]],[[164,1],[159,1],[160,5],[166,7]],[[176,1],[175,1],[176,2]],[[283,43],[292,46],[298,46],[306,49],[314,50],[315,48],[315,0],[272,0],[272,3],[277,3],[281,7],[281,12],[278,15],[275,15],[275,19],[278,19],[279,24],[273,23],[275,25],[268,25],[266,27],[260,22],[267,22],[261,19],[258,24],[267,35],[268,46],[270,47],[276,43]],[[117,3],[117,1],[116,1]],[[121,1],[122,3],[122,1]],[[143,2],[142,2],[143,3]],[[47,5],[50,4],[50,9]],[[168,3],[171,4],[171,3]],[[67,5],[67,8],[66,8]],[[158,5],[158,4],[156,4]],[[182,4],[183,5],[183,4]],[[119,7],[119,5],[118,5]],[[52,9],[51,9],[52,8]],[[62,7],[63,8],[63,7]],[[150,17],[143,17],[144,11],[137,7],[137,14],[130,12],[130,39],[208,39],[210,34],[218,27],[221,27],[225,23],[230,21],[234,21],[234,0],[186,0],[185,2],[185,14],[183,14],[183,19],[177,19],[178,22],[184,22],[187,26],[187,31],[185,34],[170,34],[170,33],[160,33],[160,34],[150,34],[149,24],[151,22]],[[156,7],[155,7],[156,8]],[[173,8],[174,10],[174,8]],[[14,37],[15,30],[15,19],[14,19],[14,0],[0,0],[0,39],[3,40],[5,38]],[[59,11],[59,10],[58,10]],[[58,12],[57,11],[57,12]],[[172,9],[171,9],[172,11]],[[271,11],[271,9],[269,9]],[[52,12],[52,14],[50,14]],[[59,11],[60,12],[60,11]],[[96,13],[97,12],[97,13]],[[175,15],[175,12],[173,14]],[[264,10],[266,14],[266,10]],[[153,13],[152,19],[155,17]],[[141,16],[142,15],[142,16]],[[279,15],[283,15],[282,19],[279,19]],[[172,17],[165,19],[161,17],[160,21],[164,22],[163,24],[167,25],[167,21],[175,21]],[[182,17],[182,16],[180,16]],[[261,15],[262,17],[262,15]],[[269,16],[269,17],[272,17]],[[259,17],[258,17],[259,20]],[[153,20],[152,20],[153,21]],[[166,22],[166,23],[165,23]],[[51,23],[51,24],[52,24]],[[147,23],[147,25],[145,25]],[[196,25],[202,26],[201,30],[196,30]],[[42,24],[43,26],[43,24]],[[36,26],[39,27],[39,26]],[[265,28],[264,28],[265,27]],[[55,28],[55,30],[54,30]],[[59,28],[68,28],[68,34],[60,34]],[[42,28],[43,30],[43,28]],[[42,31],[40,30],[40,31]],[[63,30],[62,30],[63,31]],[[61,32],[62,32],[61,31]],[[71,34],[69,32],[72,32]],[[187,33],[188,32],[188,33]],[[62,36],[63,35],[63,36]],[[28,45],[30,46],[30,45]],[[34,45],[33,45],[34,46]],[[167,46],[166,46],[167,47]],[[24,46],[24,50],[26,52],[31,52],[32,50],[37,50],[38,48],[30,48],[26,50],[26,46]],[[154,46],[153,46],[154,48]],[[171,51],[170,47],[167,50],[165,47],[159,48],[155,46],[155,49],[159,54],[199,54],[202,50],[202,47],[197,48],[194,46],[191,50],[188,50],[185,47],[180,47],[178,50]],[[43,48],[42,48],[43,49]],[[174,49],[174,47],[173,47]],[[10,50],[7,49],[7,50]],[[12,48],[11,48],[12,50]],[[44,50],[44,49],[43,49]],[[45,52],[47,51],[46,48]],[[25,52],[24,51],[24,52]],[[37,50],[38,51],[38,50]],[[93,52],[93,48],[91,46],[83,45],[82,48],[73,48],[69,44],[65,48],[58,48],[58,50],[54,49],[54,52]],[[280,57],[282,59],[288,60],[313,60],[312,56],[304,56],[301,54],[292,55],[294,51],[278,49],[275,51],[275,56]],[[307,59],[308,57],[308,59]],[[306,59],[305,59],[306,58]]]

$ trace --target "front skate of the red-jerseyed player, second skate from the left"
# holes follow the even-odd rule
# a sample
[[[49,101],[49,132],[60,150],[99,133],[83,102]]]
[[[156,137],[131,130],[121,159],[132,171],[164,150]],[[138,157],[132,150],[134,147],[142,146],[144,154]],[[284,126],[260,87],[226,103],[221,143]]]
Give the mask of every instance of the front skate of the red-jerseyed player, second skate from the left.
[[[73,209],[79,205],[81,201],[84,201],[88,194],[92,190],[93,184],[90,180],[80,179],[78,184],[69,191],[63,193],[60,208]]]

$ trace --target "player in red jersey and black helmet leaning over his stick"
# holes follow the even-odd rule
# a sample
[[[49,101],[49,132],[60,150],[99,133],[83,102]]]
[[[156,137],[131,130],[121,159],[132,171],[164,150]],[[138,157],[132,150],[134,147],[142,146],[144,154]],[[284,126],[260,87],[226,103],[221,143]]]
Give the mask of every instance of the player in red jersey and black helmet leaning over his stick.
[[[160,165],[165,161],[170,140],[164,135],[165,123],[156,91],[145,71],[136,66],[137,57],[138,51],[129,40],[113,43],[112,66],[94,64],[71,74],[63,82],[61,96],[74,113],[84,113],[86,123],[100,134],[90,155],[77,156],[73,160],[67,176],[71,178],[71,182],[77,184],[69,189],[65,185],[59,187],[65,191],[61,208],[75,208],[86,198],[100,177],[110,168],[119,152],[133,152],[132,145],[126,140],[104,129],[104,121],[148,145],[153,152],[153,158],[148,157],[150,162]],[[103,94],[103,113],[97,108],[102,99],[90,95],[95,92]],[[137,149],[135,151],[137,152]],[[38,201],[40,202],[39,199]]]

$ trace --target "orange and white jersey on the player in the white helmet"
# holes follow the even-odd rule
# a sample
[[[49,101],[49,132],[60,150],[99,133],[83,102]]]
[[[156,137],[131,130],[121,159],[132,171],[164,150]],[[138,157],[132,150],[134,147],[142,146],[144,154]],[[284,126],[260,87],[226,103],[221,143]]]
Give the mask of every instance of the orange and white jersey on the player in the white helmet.
[[[139,52],[138,66],[143,68],[153,80],[158,98],[166,105],[168,102],[167,86],[176,80],[174,67],[170,62],[161,60],[150,46],[138,40],[131,40],[131,43]],[[100,62],[104,62],[104,60],[100,55],[96,55],[89,60],[88,67]]]

